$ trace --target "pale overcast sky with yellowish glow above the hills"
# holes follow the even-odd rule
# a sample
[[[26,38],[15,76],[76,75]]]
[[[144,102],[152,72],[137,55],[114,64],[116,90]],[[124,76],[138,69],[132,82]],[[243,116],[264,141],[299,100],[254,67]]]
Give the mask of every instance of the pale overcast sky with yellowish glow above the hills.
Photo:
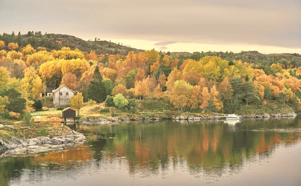
[[[301,0],[0,0],[0,33],[170,52],[301,53]]]

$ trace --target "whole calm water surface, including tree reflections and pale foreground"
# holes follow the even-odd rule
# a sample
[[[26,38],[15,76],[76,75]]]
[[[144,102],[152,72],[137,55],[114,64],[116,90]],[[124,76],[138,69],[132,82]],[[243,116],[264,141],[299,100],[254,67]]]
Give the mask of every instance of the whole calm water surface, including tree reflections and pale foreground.
[[[0,158],[0,185],[301,185],[301,118],[75,130],[91,140]]]

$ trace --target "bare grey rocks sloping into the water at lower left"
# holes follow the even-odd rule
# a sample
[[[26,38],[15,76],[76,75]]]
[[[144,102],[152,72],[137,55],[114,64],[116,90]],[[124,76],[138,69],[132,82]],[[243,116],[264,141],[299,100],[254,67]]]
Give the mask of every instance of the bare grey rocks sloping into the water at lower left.
[[[61,150],[67,145],[76,145],[88,139],[81,133],[72,131],[71,134],[49,138],[40,136],[31,139],[18,139],[12,137],[9,141],[0,140],[0,152],[5,154],[25,154],[45,152],[49,150]]]

